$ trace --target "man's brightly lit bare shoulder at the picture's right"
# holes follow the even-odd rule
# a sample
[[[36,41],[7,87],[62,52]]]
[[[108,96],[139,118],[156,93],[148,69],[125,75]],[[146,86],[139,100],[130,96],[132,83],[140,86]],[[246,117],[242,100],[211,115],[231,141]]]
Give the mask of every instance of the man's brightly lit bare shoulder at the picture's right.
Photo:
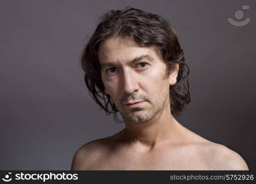
[[[209,141],[204,145],[203,153],[212,170],[249,170],[244,159],[224,145]]]

